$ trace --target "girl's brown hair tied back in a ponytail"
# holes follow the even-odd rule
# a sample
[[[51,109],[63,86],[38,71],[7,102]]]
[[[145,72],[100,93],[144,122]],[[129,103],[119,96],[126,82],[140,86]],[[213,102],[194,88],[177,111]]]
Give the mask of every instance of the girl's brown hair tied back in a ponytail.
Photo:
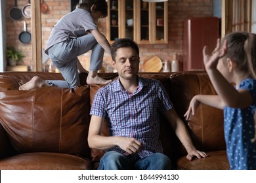
[[[256,35],[240,31],[229,33],[224,40],[228,41],[224,58],[232,59],[238,72],[256,79]]]

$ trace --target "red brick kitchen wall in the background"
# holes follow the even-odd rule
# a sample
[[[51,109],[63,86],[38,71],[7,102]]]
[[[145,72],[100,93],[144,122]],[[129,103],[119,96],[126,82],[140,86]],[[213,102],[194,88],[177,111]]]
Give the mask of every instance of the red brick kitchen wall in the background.
[[[42,47],[45,48],[47,39],[51,33],[53,25],[64,15],[70,12],[70,0],[44,0],[49,10],[41,15],[42,23]],[[22,10],[24,5],[28,4],[27,0],[18,0],[17,7]],[[175,53],[178,57],[182,56],[182,28],[184,19],[192,16],[212,16],[213,0],[171,0],[168,4],[168,44],[148,44],[139,45],[140,59],[146,56],[157,55],[161,59],[171,59]],[[9,10],[14,7],[14,1],[7,1],[7,45],[15,46],[17,50],[24,52],[26,56],[24,63],[30,65],[32,59],[31,43],[24,44],[19,41],[18,35],[24,31],[23,21],[26,21],[27,31],[31,33],[30,18],[14,21],[9,18]],[[99,29],[106,35],[106,19],[99,22]],[[89,68],[90,52],[84,56],[79,56],[83,66]],[[108,54],[104,56],[104,62],[110,63],[112,59]]]

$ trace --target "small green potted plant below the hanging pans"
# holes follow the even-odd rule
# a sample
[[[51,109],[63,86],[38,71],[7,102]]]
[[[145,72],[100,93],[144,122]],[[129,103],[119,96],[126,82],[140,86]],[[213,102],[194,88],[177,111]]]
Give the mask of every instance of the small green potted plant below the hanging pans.
[[[12,66],[17,65],[18,61],[23,62],[22,58],[24,58],[24,54],[16,50],[14,46],[7,46],[6,56]]]

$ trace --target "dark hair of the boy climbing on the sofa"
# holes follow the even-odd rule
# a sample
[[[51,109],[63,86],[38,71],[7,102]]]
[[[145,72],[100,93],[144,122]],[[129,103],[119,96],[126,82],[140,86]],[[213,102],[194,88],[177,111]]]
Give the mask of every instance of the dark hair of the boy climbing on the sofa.
[[[91,12],[91,7],[96,5],[95,11],[102,12],[102,16],[108,16],[108,2],[106,0],[80,0],[77,8],[85,9]]]

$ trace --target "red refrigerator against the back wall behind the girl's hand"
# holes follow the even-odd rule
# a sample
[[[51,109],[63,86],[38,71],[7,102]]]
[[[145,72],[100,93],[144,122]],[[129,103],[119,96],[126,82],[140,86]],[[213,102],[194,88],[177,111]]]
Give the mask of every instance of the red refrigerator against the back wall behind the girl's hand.
[[[184,20],[183,31],[183,71],[204,70],[203,46],[211,53],[220,37],[219,18],[193,17]]]

